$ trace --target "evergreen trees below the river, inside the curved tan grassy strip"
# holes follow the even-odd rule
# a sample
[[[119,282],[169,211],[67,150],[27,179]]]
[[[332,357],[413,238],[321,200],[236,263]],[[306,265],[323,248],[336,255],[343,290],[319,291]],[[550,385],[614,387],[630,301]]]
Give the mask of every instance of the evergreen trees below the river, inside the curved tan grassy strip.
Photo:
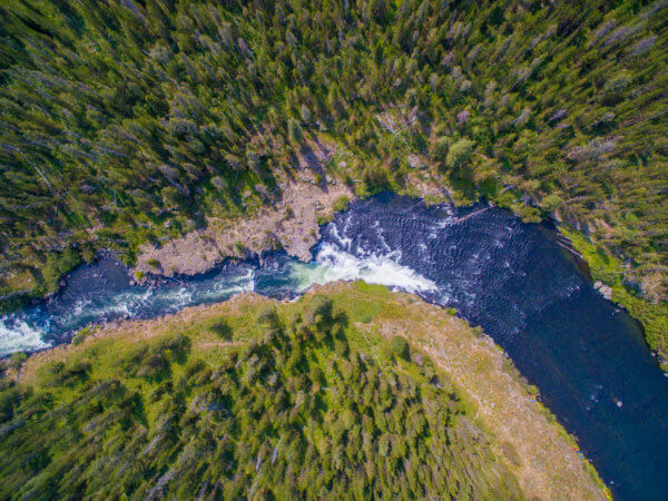
[[[374,354],[323,295],[243,317],[128,340],[84,331],[66,361],[3,379],[0,497],[523,498],[404,337]]]

